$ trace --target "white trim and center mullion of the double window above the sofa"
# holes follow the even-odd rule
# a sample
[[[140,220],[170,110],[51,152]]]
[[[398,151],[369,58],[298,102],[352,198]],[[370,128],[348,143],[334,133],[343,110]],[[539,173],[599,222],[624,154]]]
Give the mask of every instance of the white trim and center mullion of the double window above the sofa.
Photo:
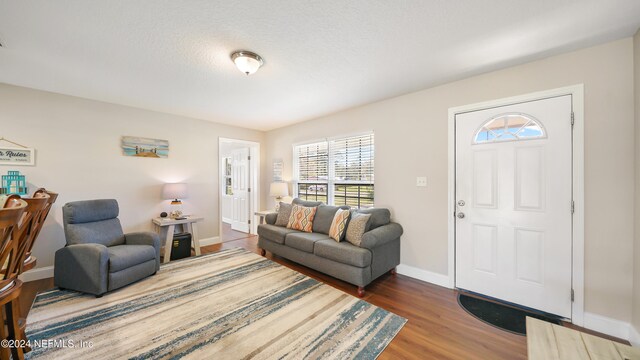
[[[291,182],[292,182],[292,185],[293,185],[293,195],[294,195],[294,197],[299,197],[299,194],[298,194],[298,188],[299,187],[298,187],[298,185],[301,183],[300,179],[298,179],[299,170],[300,170],[299,165],[298,165],[297,151],[296,151],[296,148],[298,146],[310,145],[310,144],[315,144],[315,143],[319,143],[319,142],[326,142],[327,143],[327,152],[329,154],[329,161],[328,161],[328,164],[327,164],[327,181],[309,180],[309,181],[304,181],[302,183],[303,184],[327,184],[327,204],[328,205],[333,205],[334,204],[334,195],[335,195],[334,194],[335,193],[334,186],[336,184],[336,181],[334,180],[335,169],[334,169],[334,167],[332,165],[332,162],[331,162],[331,142],[335,141],[335,140],[345,139],[345,138],[358,137],[358,136],[367,136],[367,135],[374,135],[374,138],[375,138],[375,132],[373,130],[371,130],[371,131],[354,132],[354,133],[348,133],[348,134],[344,134],[344,135],[340,135],[340,136],[325,137],[325,138],[319,138],[319,139],[315,139],[315,140],[307,140],[307,141],[301,141],[301,142],[294,143],[292,145],[292,147],[291,147],[292,162],[293,162],[293,180]],[[374,147],[373,147],[374,159],[375,159],[375,153],[376,153],[376,147],[374,145]],[[374,173],[375,173],[375,168],[374,168]],[[338,183],[339,184],[354,184],[354,185],[356,185],[356,184],[357,185],[374,185],[374,189],[375,189],[375,180],[374,181],[345,180],[345,181],[339,181]],[[375,195],[374,195],[374,203],[375,203]]]

